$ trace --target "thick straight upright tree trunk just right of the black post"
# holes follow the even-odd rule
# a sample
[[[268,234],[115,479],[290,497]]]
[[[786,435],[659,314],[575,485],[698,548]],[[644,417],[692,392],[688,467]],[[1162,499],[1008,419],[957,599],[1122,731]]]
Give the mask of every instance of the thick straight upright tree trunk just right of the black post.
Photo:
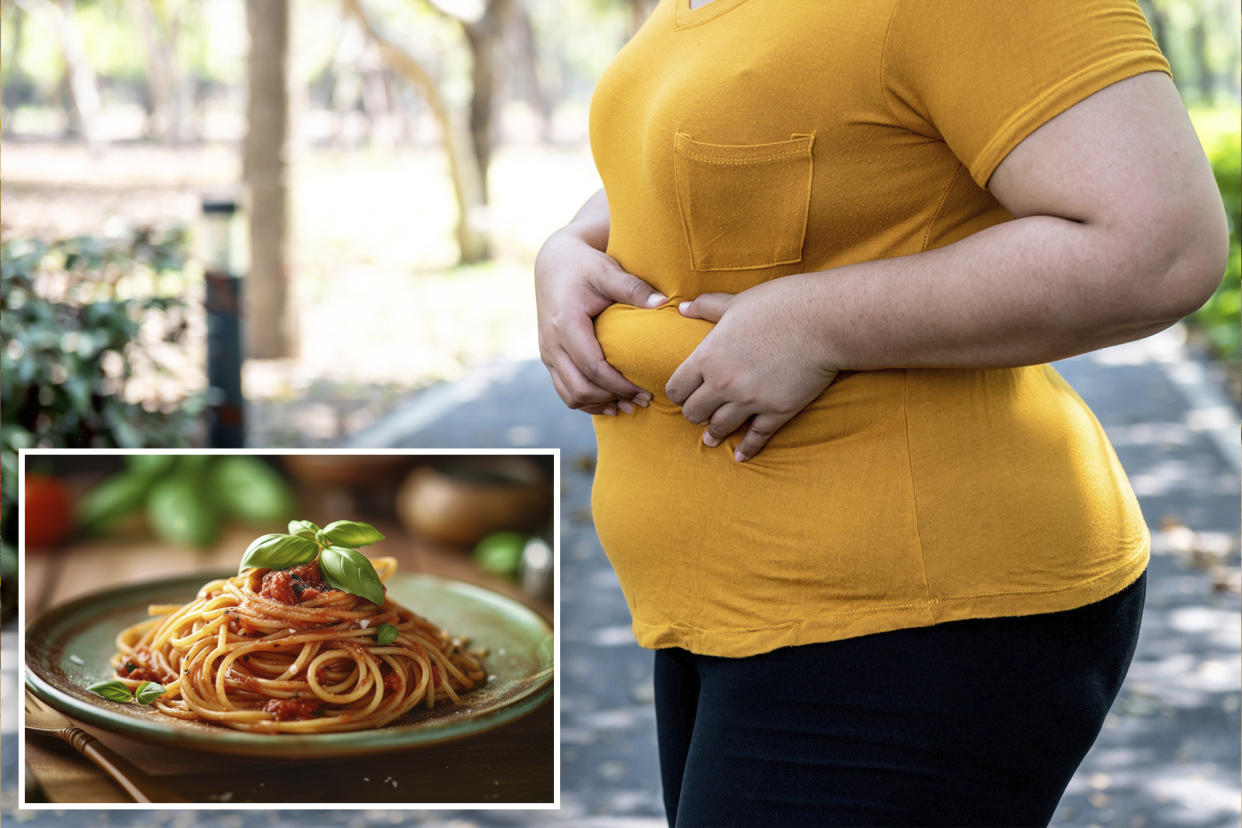
[[[289,0],[246,4],[250,32],[243,171],[250,195],[246,351],[294,354],[289,312]]]

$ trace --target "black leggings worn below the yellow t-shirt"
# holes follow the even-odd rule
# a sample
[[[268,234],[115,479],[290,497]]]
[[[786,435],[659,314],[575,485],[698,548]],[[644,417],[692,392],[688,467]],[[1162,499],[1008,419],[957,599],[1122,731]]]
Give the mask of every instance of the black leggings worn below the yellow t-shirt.
[[[1134,655],[1146,574],[1078,610],[749,658],[656,652],[676,826],[1045,826]]]

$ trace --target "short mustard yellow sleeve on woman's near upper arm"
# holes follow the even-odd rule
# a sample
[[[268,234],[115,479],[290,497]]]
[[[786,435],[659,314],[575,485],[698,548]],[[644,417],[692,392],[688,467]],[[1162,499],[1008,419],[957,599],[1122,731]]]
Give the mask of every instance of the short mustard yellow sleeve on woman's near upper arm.
[[[897,0],[884,97],[979,186],[1023,138],[1107,86],[1169,62],[1134,0]]]

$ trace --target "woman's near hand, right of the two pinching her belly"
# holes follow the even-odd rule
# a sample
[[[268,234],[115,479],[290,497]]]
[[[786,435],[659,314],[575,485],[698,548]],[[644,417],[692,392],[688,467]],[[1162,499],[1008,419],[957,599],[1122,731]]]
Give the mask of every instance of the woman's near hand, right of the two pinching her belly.
[[[822,333],[807,328],[797,284],[765,282],[743,293],[704,293],[679,305],[682,315],[717,323],[678,366],[664,391],[703,442],[749,427],[734,459],[758,454],[781,426],[832,384],[837,369],[822,353]],[[792,288],[792,289],[791,289]]]

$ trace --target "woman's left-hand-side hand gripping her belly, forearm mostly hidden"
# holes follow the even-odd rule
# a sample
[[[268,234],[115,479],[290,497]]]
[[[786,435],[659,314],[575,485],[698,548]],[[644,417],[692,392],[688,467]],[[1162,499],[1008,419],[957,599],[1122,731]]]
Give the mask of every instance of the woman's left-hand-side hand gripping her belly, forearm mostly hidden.
[[[650,391],[604,359],[592,320],[615,303],[656,308],[664,302],[655,288],[568,227],[544,242],[535,258],[539,354],[566,406],[614,416],[619,408],[630,413],[633,405],[651,402]]]

